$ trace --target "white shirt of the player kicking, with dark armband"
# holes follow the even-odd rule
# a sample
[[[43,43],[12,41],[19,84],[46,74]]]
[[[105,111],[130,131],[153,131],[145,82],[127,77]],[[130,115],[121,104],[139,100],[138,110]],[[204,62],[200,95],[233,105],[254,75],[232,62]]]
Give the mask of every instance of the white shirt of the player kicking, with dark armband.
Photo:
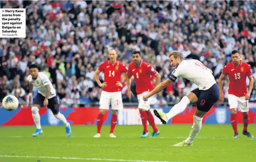
[[[194,82],[200,90],[209,89],[216,83],[214,76],[209,69],[198,60],[183,60],[173,70],[169,79],[175,81],[178,77],[184,77]]]

